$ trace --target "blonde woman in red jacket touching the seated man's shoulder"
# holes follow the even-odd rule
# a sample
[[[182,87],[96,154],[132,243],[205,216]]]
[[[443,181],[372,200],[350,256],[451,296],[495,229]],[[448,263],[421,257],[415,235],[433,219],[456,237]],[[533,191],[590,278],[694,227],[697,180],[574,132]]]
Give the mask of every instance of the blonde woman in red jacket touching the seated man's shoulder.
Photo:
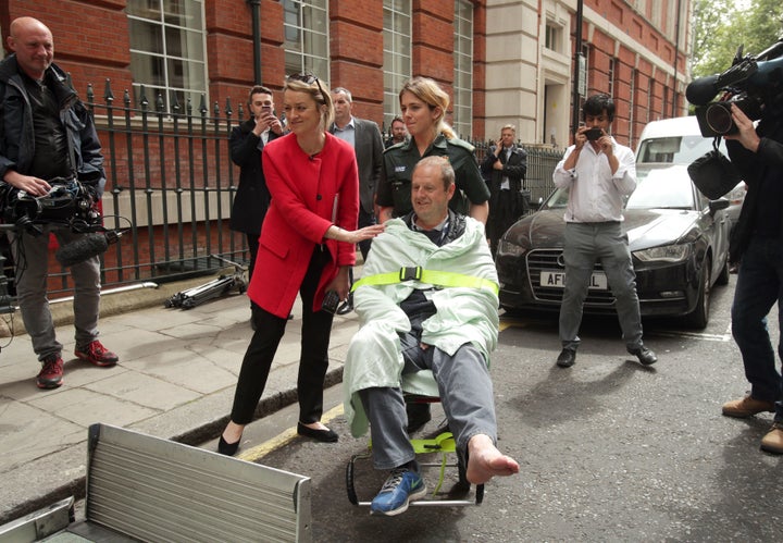
[[[334,110],[327,88],[313,75],[291,75],[283,89],[290,133],[263,149],[263,172],[272,195],[259,238],[248,295],[256,304],[250,341],[234,395],[231,421],[217,451],[234,455],[252,420],[285,332],[297,292],[302,300],[297,392],[300,435],[324,442],[337,434],[321,423],[333,314],[322,310],[325,293],[348,296],[355,244],[382,225],[356,230],[359,176],[353,148],[332,136]]]

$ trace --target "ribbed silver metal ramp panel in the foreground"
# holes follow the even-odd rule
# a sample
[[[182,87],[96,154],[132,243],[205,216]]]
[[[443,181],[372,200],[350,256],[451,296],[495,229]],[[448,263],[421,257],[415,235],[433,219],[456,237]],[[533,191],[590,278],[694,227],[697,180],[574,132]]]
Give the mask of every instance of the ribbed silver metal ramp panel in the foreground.
[[[134,539],[312,540],[307,477],[107,424],[87,462],[87,521]]]

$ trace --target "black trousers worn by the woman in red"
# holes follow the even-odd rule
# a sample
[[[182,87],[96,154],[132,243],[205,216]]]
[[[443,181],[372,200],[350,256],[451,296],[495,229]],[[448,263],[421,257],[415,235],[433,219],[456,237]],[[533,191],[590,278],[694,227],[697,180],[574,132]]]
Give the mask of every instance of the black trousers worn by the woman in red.
[[[330,252],[322,251],[321,247],[316,246],[302,284],[299,286],[302,300],[302,328],[297,394],[299,421],[303,423],[316,422],[323,415],[323,384],[328,369],[330,334],[334,316],[327,311],[313,311],[312,304],[321,272],[330,260]],[[270,288],[274,288],[274,285]],[[252,421],[288,322],[287,318],[281,319],[254,304],[252,319],[256,333],[243,359],[231,415],[231,419],[237,424]]]

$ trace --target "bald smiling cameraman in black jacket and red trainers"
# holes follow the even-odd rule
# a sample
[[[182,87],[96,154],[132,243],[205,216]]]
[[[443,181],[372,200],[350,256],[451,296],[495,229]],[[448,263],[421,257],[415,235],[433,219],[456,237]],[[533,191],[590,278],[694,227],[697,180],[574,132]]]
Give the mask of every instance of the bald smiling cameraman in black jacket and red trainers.
[[[80,181],[97,201],[105,184],[103,157],[92,119],[52,64],[54,41],[40,21],[18,17],[11,23],[8,48],[0,62],[0,180],[33,196],[46,196],[47,180]],[[40,388],[62,384],[62,344],[54,335],[47,279],[49,234],[65,245],[83,234],[67,226],[45,224],[41,234],[20,229],[11,233],[16,262],[16,294],[33,349],[42,363]],[[97,340],[100,304],[98,257],[71,268],[75,285],[75,355],[96,366],[114,366],[117,357]]]

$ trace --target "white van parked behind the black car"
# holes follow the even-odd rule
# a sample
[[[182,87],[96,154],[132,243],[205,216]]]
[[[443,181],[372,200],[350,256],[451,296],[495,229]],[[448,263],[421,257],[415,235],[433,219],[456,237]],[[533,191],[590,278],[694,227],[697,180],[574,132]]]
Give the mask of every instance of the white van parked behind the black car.
[[[726,155],[723,138],[719,149]],[[664,119],[647,123],[642,131],[636,146],[636,163],[689,164],[711,150],[712,138],[701,135],[695,116]],[[739,210],[745,200],[745,183],[739,182],[724,198],[731,202],[726,213],[733,227],[739,219]]]

